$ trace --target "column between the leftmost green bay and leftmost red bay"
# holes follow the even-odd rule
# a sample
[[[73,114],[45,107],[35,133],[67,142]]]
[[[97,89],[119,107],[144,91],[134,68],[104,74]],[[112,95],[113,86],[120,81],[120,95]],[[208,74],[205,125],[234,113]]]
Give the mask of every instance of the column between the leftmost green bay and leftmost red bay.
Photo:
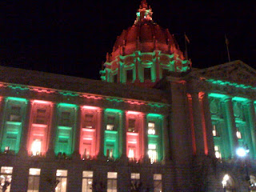
[[[31,108],[32,108],[32,102],[27,101],[26,102],[26,117],[25,121],[22,127],[22,134],[21,134],[21,144],[20,149],[18,151],[19,155],[27,156],[27,141],[28,141],[28,134],[30,129],[30,118],[31,118]]]

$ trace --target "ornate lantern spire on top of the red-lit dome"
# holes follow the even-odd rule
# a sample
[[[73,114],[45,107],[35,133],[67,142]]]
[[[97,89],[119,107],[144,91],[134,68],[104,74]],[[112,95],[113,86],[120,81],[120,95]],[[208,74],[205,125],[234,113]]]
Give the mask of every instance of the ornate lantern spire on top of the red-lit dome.
[[[137,18],[135,20],[135,24],[138,22],[148,22],[152,21],[152,9],[150,6],[148,6],[146,0],[142,0],[141,5],[139,6],[138,12],[137,12]]]

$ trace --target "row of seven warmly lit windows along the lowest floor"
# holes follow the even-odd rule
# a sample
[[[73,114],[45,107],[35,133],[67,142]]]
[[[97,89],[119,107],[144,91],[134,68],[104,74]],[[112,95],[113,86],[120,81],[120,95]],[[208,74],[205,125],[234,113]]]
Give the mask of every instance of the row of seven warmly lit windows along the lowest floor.
[[[0,191],[10,192],[11,180],[12,180],[13,167],[2,166],[0,183],[2,189]],[[27,192],[38,192],[39,184],[42,178],[40,177],[41,169],[30,168]],[[55,192],[66,192],[67,190],[67,170],[56,170]],[[107,172],[106,190],[107,192],[117,192],[118,191],[118,173],[117,172]],[[140,181],[139,173],[130,174],[130,190],[138,191],[142,188],[142,182]],[[162,174],[154,174],[154,192],[162,191]],[[104,187],[105,188],[105,187]],[[82,192],[92,192],[94,190],[102,189],[102,182],[98,182],[97,178],[94,178],[93,171],[82,171]],[[128,190],[128,189],[127,189]]]

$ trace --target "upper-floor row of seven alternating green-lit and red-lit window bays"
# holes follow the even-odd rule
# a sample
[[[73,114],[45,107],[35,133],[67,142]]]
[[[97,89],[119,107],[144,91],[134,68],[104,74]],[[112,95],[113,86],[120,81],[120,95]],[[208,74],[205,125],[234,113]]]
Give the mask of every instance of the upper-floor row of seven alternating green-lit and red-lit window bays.
[[[29,106],[23,98],[6,98],[5,102],[2,152],[18,153],[24,135],[22,131],[27,131],[26,149],[29,155],[45,155],[50,137],[55,137],[55,154],[73,154],[75,142],[79,142],[81,157],[95,158],[99,153],[100,138],[104,138],[103,150],[108,158],[119,158],[123,152],[122,142],[126,140],[126,154],[130,160],[138,160],[146,153],[151,162],[162,159],[163,122],[160,114],[147,114],[144,118],[145,114],[135,111],[124,113],[122,110],[101,110],[94,106],[79,108],[67,103],[54,106],[52,102],[39,100],[32,101]],[[50,135],[52,129],[54,135]],[[101,135],[101,129],[104,129],[104,135]],[[126,131],[126,138],[122,138],[122,131]],[[80,135],[79,141],[75,141],[78,138],[76,134]],[[144,139],[148,141],[148,146],[145,146]]]

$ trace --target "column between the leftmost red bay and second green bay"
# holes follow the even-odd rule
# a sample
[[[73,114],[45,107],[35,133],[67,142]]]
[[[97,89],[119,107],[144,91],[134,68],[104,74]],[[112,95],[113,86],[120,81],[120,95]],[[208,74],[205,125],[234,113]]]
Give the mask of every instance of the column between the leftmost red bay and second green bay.
[[[46,152],[46,158],[54,158],[54,146],[55,146],[55,140],[56,140],[56,131],[57,131],[57,105],[56,103],[52,104],[52,114],[51,114],[51,126],[50,126],[50,139],[49,139],[49,145],[48,150]]]

